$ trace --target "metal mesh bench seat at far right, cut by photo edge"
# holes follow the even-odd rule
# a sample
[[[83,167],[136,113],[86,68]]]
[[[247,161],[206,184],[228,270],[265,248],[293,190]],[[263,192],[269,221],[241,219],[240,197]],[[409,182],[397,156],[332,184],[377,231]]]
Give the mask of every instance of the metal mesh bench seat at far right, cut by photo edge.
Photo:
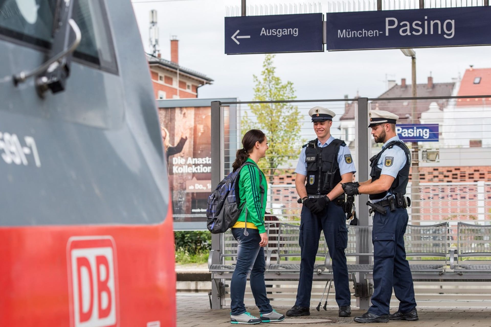
[[[480,258],[479,258],[480,257]],[[457,250],[450,268],[467,280],[491,279],[491,225],[457,224]]]

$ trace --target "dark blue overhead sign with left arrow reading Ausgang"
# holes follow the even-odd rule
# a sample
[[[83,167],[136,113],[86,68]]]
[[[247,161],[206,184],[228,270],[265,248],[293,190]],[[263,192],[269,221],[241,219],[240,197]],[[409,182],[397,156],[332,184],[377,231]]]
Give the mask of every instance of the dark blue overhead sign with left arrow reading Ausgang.
[[[225,53],[324,51],[322,14],[225,17]]]

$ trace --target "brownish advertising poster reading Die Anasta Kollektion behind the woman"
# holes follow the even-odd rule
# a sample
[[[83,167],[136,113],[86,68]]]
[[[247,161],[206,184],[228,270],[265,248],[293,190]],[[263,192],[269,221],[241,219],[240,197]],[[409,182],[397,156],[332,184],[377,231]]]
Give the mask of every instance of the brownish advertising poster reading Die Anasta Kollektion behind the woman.
[[[206,201],[216,187],[211,185],[211,107],[159,108],[159,119],[174,221],[206,221]]]

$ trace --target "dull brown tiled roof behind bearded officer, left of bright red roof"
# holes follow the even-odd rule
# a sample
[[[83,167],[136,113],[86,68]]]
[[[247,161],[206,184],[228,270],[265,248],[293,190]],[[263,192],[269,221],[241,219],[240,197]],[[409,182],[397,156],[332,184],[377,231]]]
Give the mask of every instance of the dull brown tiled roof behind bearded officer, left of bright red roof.
[[[431,89],[428,88],[428,84],[417,84],[416,92],[418,97],[449,97],[452,95],[452,90],[455,83],[434,83]],[[388,89],[379,98],[407,98],[411,97],[411,85],[402,87],[401,85],[394,85]],[[447,105],[448,100],[418,100],[416,102],[417,119],[421,117],[421,113],[429,109],[431,102],[436,102],[440,110]],[[411,112],[411,102],[409,100],[374,100],[371,102],[371,109],[380,109],[390,111],[400,117],[397,121],[398,124],[407,124],[410,121],[406,118]],[[355,119],[355,105],[351,103],[346,106],[345,113],[340,118],[341,120],[353,120]]]

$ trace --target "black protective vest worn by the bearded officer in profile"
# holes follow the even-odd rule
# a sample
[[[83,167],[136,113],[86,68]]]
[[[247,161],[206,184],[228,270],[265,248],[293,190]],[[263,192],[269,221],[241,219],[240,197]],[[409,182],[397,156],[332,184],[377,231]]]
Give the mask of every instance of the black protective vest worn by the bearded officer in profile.
[[[377,163],[379,162],[383,151],[387,149],[391,149],[392,147],[399,147],[404,152],[406,153],[406,164],[404,167],[397,173],[396,178],[394,179],[394,182],[389,188],[390,193],[395,194],[395,193],[401,193],[402,195],[406,194],[406,186],[408,186],[408,181],[409,181],[409,168],[411,168],[411,152],[409,151],[409,148],[406,146],[406,144],[400,140],[394,140],[391,141],[385,148],[383,148],[382,151],[380,151],[378,154],[374,155],[372,158],[370,158],[370,167],[372,170],[370,171],[370,176],[372,177],[372,182],[380,178],[380,175],[382,173],[382,168],[377,167]],[[382,165],[385,164],[382,162]],[[386,192],[382,192],[379,194],[371,194],[370,200],[378,200],[382,199],[387,195]]]

